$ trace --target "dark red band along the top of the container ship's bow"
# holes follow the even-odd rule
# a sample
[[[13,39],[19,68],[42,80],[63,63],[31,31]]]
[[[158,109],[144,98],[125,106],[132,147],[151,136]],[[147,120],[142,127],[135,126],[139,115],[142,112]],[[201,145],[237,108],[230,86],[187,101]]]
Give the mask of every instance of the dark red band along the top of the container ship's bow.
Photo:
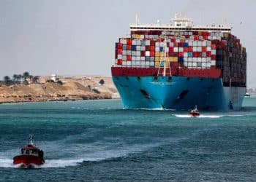
[[[162,73],[164,68],[132,68],[132,67],[112,67],[112,76],[157,76],[158,72]],[[170,74],[171,71],[171,74]],[[166,76],[184,76],[184,77],[199,77],[217,79],[221,76],[221,69],[192,69],[192,68],[178,68],[173,66],[166,68]],[[162,74],[159,74],[162,76]]]

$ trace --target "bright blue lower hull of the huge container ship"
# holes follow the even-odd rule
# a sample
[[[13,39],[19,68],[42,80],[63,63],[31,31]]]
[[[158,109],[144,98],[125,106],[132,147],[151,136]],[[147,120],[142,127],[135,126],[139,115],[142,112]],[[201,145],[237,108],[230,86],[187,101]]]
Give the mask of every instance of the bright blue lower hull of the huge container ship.
[[[223,87],[222,79],[183,76],[113,76],[124,108],[238,110],[245,87]]]

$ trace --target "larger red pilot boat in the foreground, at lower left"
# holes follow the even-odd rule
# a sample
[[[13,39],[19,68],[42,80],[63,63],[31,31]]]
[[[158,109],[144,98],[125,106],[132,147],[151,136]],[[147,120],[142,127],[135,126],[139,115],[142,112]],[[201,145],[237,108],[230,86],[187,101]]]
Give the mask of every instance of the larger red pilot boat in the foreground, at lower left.
[[[44,163],[44,152],[34,145],[33,135],[29,135],[29,143],[20,149],[20,155],[13,157],[13,164],[21,168],[33,168]]]

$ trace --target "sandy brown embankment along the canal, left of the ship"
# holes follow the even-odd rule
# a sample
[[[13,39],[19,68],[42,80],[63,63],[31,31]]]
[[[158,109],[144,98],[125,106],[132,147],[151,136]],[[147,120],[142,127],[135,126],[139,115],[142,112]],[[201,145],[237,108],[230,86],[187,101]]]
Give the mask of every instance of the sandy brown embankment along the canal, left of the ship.
[[[56,100],[91,100],[118,98],[118,93],[109,78],[99,85],[98,79],[63,77],[63,84],[52,82],[38,84],[14,84],[0,86],[0,103],[37,102]]]

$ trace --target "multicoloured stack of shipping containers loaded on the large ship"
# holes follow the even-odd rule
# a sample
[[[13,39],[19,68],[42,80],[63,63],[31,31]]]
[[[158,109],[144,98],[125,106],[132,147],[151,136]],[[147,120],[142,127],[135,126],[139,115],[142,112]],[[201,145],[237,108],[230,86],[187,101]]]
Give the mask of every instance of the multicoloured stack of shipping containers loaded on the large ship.
[[[221,68],[225,84],[246,83],[246,50],[230,33],[132,31],[116,43],[116,66],[159,68],[171,62],[179,68]]]

